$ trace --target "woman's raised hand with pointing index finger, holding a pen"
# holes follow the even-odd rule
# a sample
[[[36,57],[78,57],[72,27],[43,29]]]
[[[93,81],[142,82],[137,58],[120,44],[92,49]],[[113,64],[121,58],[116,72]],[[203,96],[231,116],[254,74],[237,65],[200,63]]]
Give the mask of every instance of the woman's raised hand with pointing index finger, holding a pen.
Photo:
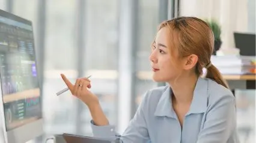
[[[99,105],[98,97],[88,90],[88,88],[91,88],[91,81],[89,79],[76,79],[76,84],[73,85],[65,75],[61,74],[61,77],[71,91],[72,95],[82,100],[82,102],[84,102],[89,108]]]

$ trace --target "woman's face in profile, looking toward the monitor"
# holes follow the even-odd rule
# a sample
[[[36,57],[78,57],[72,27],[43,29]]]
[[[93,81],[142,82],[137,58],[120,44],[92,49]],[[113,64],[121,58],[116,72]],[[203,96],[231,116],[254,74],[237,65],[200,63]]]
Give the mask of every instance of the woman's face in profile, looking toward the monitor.
[[[156,82],[171,82],[183,71],[184,61],[178,58],[177,50],[168,47],[169,31],[162,28],[157,32],[156,39],[151,48],[151,67],[153,80]],[[173,51],[174,53],[170,53]]]

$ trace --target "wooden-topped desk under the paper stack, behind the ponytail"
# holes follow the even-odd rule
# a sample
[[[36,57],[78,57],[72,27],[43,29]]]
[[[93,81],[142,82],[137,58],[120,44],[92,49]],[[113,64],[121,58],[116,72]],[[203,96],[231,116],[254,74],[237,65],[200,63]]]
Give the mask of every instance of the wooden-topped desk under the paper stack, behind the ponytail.
[[[235,90],[255,90],[255,75],[222,75],[228,82],[230,90],[235,95]]]

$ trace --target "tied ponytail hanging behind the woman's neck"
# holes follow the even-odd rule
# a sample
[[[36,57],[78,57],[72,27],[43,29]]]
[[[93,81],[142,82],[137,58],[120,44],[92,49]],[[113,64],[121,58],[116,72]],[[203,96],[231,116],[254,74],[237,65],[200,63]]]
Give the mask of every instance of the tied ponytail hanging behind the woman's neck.
[[[212,65],[212,63],[210,63],[206,68],[207,68],[206,78],[213,79],[213,81],[229,89],[227,82],[225,81],[225,79],[223,79],[218,68]]]

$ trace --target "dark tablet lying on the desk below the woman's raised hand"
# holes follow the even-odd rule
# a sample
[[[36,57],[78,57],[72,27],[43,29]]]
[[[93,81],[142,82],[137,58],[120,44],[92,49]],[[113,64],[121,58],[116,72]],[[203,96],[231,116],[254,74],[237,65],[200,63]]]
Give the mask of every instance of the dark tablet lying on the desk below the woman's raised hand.
[[[79,136],[64,133],[62,137],[65,139],[66,143],[118,143],[118,140],[108,141],[100,138],[93,138],[90,136]],[[58,143],[58,142],[56,142]]]

